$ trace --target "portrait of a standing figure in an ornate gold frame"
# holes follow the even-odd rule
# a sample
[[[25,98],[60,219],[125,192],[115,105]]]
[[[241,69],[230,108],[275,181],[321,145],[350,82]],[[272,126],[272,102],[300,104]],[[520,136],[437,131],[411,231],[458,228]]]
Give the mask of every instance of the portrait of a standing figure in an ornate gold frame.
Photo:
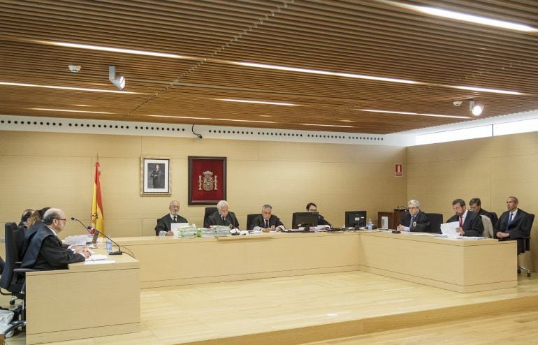
[[[140,157],[140,195],[170,196],[170,159]]]

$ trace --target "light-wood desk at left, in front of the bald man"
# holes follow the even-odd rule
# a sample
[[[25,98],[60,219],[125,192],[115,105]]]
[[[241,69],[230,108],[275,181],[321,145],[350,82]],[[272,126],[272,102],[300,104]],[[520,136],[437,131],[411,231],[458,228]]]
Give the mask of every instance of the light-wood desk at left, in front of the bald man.
[[[112,259],[27,274],[27,344],[140,331],[138,261]]]

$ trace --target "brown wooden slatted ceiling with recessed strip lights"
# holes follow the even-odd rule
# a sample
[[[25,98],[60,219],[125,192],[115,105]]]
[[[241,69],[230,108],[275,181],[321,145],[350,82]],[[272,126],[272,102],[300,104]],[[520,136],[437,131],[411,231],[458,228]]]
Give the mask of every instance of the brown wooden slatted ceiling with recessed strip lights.
[[[538,28],[537,1],[398,1]],[[0,82],[114,90],[108,65],[126,91],[0,85],[0,113],[124,121],[225,124],[275,129],[393,133],[463,119],[360,109],[483,117],[538,109],[538,34],[523,34],[421,14],[387,1],[0,1]],[[59,47],[36,41],[164,52],[140,54]],[[251,62],[421,82],[380,82],[239,66]],[[68,64],[82,66],[80,73]],[[448,86],[520,91],[511,96]],[[231,103],[218,98],[296,103]],[[456,108],[452,101],[464,101]],[[110,114],[43,112],[76,109]],[[205,117],[272,124],[215,122]],[[351,128],[304,126],[303,123]]]

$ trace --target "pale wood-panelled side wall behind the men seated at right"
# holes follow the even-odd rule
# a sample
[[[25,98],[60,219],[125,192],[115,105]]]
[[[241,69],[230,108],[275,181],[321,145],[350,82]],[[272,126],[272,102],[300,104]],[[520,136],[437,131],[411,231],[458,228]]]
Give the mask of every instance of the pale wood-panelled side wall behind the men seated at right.
[[[484,209],[506,211],[516,196],[526,212],[538,212],[538,133],[503,135],[407,148],[407,198],[421,201],[425,212],[442,213],[446,221],[452,200],[481,199]],[[404,170],[405,171],[405,170]],[[531,254],[525,264],[535,270],[537,223],[532,227]]]

